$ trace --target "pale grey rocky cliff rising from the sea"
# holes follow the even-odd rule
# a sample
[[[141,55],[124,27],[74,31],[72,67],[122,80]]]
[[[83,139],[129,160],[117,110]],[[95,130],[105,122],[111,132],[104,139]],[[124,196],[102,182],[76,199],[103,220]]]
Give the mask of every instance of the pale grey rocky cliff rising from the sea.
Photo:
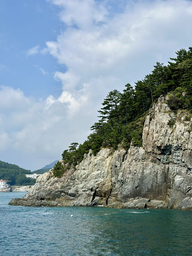
[[[39,176],[23,206],[192,209],[192,118],[161,96],[146,117],[143,147],[91,152],[61,178]]]

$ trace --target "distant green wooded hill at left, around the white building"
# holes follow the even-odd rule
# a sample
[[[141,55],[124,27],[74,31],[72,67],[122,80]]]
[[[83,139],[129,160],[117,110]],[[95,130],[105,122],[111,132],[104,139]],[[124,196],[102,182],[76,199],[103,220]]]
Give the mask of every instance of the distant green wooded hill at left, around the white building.
[[[31,171],[0,161],[0,179],[7,180],[10,185],[34,185],[35,179],[27,178],[25,174],[31,174]]]

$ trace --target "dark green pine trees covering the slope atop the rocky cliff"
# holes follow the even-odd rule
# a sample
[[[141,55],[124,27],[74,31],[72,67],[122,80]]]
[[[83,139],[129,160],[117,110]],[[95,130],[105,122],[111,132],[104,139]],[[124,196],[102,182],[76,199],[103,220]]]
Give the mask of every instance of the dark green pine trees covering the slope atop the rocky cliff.
[[[145,115],[160,95],[172,94],[167,103],[173,110],[191,111],[192,47],[188,51],[181,49],[176,55],[167,66],[157,62],[150,74],[135,83],[135,88],[128,83],[123,93],[109,92],[98,110],[100,120],[91,126],[93,132],[83,144],[71,143],[69,149],[64,150],[64,165],[55,164],[54,175],[60,177],[71,164],[75,166],[82,161],[89,149],[96,155],[101,147],[116,149],[119,143],[126,149],[131,143],[142,146]]]

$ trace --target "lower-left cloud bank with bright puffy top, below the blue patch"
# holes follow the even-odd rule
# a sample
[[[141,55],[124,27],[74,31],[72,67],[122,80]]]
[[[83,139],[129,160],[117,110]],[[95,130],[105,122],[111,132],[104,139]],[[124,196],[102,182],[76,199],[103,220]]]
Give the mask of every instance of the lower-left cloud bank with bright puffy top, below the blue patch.
[[[89,117],[77,111],[79,105],[69,93],[37,101],[19,89],[1,86],[1,159],[35,170],[61,157],[73,140],[82,142],[88,134]],[[79,119],[85,123],[76,129]]]

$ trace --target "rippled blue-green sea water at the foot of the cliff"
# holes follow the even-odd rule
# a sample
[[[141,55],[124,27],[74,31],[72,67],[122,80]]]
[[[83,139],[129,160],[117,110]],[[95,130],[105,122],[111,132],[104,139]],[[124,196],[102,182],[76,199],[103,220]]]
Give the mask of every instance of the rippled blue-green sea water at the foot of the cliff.
[[[7,205],[24,194],[0,193],[2,256],[192,255],[192,212]]]

